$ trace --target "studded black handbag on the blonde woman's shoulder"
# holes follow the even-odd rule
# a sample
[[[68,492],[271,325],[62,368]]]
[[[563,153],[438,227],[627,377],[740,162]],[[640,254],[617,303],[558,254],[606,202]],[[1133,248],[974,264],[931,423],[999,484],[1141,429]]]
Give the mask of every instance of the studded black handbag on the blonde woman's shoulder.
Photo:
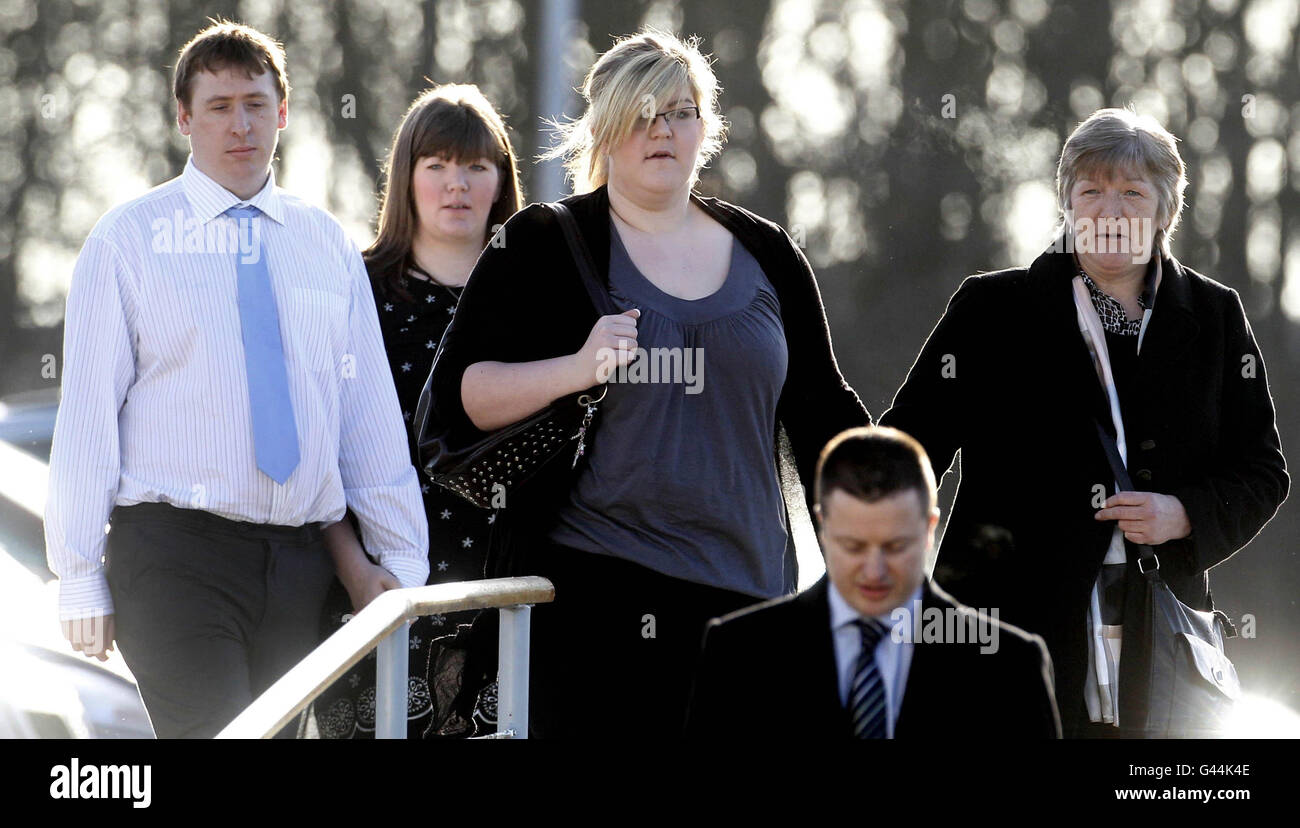
[[[573,256],[582,283],[601,316],[618,313],[608,290],[595,273],[592,253],[578,234],[577,222],[568,207],[559,203],[550,208]],[[437,364],[437,357],[434,357]],[[569,458],[576,468],[586,454],[588,438],[595,421],[598,406],[608,386],[559,399],[537,413],[506,428],[498,429],[473,443],[455,450],[441,433],[426,434],[424,416],[429,407],[432,382],[426,382],[416,408],[420,428],[417,443],[425,474],[434,484],[456,493],[480,508],[504,506],[506,499],[551,463]]]

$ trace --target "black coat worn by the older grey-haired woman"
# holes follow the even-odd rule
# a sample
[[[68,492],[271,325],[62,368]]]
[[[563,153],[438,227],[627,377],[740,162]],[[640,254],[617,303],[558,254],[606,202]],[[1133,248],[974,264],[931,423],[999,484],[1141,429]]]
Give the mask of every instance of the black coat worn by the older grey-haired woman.
[[[881,417],[922,442],[937,477],[961,450],[933,577],[1044,637],[1067,734],[1087,719],[1086,614],[1114,526],[1093,517],[1096,486],[1114,493],[1095,420],[1113,426],[1079,334],[1075,273],[1072,253],[1049,250],[1030,268],[967,278]],[[1184,603],[1209,610],[1206,571],[1260,532],[1290,485],[1236,291],[1165,259],[1132,387],[1122,403],[1134,485],[1175,495],[1192,525],[1156,547],[1161,572]],[[1127,584],[1121,724],[1145,710],[1134,564]]]

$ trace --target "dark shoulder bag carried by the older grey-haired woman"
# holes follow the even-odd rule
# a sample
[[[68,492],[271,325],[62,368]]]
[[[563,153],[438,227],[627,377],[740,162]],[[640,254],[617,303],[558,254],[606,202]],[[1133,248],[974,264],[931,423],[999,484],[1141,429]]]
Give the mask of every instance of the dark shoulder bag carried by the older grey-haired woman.
[[[1096,422],[1096,421],[1095,421]],[[1128,478],[1115,438],[1096,422],[1110,471],[1121,489],[1136,491]],[[1216,610],[1202,612],[1178,599],[1160,575],[1160,558],[1145,545],[1134,562],[1147,585],[1143,598],[1143,633],[1150,642],[1149,671],[1141,679],[1147,721],[1121,723],[1148,737],[1217,736],[1242,694],[1236,668],[1223,654],[1223,640],[1236,636],[1228,617]],[[1124,624],[1139,619],[1123,620]],[[1123,658],[1121,655],[1121,658]],[[1123,693],[1123,686],[1121,686]]]

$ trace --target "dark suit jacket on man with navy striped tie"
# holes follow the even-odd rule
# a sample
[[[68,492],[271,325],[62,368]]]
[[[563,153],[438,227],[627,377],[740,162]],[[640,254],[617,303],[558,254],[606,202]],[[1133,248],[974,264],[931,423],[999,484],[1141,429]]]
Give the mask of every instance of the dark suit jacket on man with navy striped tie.
[[[840,703],[829,578],[710,621],[688,714],[692,737],[853,738]],[[923,612],[957,608],[926,584]],[[896,738],[1056,738],[1046,647],[998,621],[998,649],[915,643]]]

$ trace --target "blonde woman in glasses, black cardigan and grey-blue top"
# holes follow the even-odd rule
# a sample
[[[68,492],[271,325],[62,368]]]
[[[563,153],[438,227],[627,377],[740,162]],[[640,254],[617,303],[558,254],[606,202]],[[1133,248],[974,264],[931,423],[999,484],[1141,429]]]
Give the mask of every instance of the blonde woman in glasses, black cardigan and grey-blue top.
[[[604,383],[572,474],[566,456],[566,474],[510,494],[493,555],[499,573],[555,584],[534,611],[534,736],[662,738],[685,723],[706,621],[794,590],[797,481],[811,491],[822,447],[870,417],[798,247],[693,192],[723,138],[694,42],[620,40],[582,91],[558,149],[582,195],[564,203],[621,313],[599,316],[554,214],[525,208],[469,277],[422,430],[473,445]],[[698,382],[608,372],[663,352]],[[797,469],[784,481],[781,425]]]

